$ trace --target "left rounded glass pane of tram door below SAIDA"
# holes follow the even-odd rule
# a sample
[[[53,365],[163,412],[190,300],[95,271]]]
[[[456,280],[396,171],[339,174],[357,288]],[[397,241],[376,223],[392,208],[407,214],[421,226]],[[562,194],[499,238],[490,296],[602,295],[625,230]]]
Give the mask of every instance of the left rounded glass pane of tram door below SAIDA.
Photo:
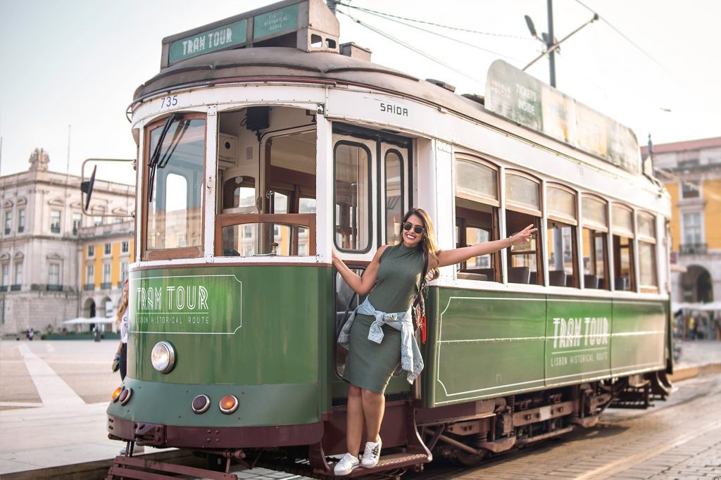
[[[359,143],[340,141],[334,157],[335,246],[366,252],[371,247],[371,152]]]

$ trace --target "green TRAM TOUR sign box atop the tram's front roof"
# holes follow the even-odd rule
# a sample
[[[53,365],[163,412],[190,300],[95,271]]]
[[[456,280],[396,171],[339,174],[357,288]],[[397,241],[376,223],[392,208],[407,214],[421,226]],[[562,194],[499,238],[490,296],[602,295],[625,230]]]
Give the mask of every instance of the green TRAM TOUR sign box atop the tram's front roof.
[[[340,24],[324,0],[283,0],[165,37],[160,68],[187,58],[248,47],[338,53]]]

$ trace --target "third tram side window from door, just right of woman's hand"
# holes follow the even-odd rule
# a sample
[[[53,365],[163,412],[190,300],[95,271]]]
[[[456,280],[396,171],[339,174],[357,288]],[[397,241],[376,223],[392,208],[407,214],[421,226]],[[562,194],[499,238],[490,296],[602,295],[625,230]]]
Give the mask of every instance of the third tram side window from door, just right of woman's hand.
[[[578,287],[576,195],[565,187],[548,187],[549,285]]]

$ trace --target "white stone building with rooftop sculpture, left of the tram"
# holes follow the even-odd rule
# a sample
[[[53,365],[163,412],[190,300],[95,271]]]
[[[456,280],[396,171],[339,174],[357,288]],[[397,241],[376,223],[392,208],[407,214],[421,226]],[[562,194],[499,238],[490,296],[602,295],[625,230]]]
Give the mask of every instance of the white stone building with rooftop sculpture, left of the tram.
[[[130,215],[134,209],[133,186],[97,181],[93,215],[84,215],[81,178],[50,172],[49,161],[45,151],[36,149],[27,172],[0,177],[0,334],[30,328],[57,332],[64,320],[80,316],[84,273],[79,245],[88,243],[87,228],[116,221],[102,215]],[[131,218],[118,219],[132,239]],[[115,304],[117,284],[114,290],[108,293]]]

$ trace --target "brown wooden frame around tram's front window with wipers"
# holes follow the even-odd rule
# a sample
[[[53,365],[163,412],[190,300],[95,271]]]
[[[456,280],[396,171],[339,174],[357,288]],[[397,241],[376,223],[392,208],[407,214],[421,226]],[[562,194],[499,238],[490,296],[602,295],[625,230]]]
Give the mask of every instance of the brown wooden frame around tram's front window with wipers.
[[[150,161],[150,141],[151,132],[156,128],[164,125],[167,117],[170,114],[164,115],[158,120],[149,123],[144,128],[145,135],[143,141],[143,183],[141,188],[141,205],[142,205],[142,217],[141,223],[141,259],[143,260],[172,260],[180,258],[200,258],[203,257],[205,252],[205,208],[201,208],[200,214],[200,246],[182,246],[175,249],[155,249],[148,250],[148,162]],[[182,120],[204,120],[205,121],[205,132],[203,133],[203,179],[208,173],[208,115],[205,112],[178,112],[176,115],[180,115],[179,121]],[[157,179],[156,179],[157,181]],[[204,185],[204,182],[203,182]],[[205,188],[200,191],[201,205],[205,205],[207,201],[205,198]]]

